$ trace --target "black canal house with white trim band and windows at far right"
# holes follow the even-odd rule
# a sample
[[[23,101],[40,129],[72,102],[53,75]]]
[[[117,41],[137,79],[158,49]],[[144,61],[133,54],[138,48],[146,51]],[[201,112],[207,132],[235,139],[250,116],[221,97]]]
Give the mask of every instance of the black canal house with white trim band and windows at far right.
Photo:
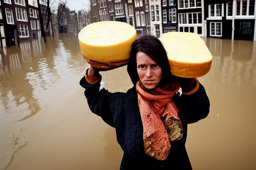
[[[255,0],[205,0],[207,37],[256,41]]]

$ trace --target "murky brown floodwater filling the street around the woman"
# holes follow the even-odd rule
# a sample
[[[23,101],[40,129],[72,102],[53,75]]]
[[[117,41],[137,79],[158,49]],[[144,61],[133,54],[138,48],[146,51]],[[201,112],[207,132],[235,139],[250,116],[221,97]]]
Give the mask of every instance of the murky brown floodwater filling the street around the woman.
[[[192,167],[255,169],[256,42],[203,39],[213,63],[198,79],[211,108],[188,126]],[[70,34],[2,50],[0,170],[120,168],[115,129],[91,113],[79,85],[88,66]],[[132,87],[126,67],[102,76],[111,92]]]

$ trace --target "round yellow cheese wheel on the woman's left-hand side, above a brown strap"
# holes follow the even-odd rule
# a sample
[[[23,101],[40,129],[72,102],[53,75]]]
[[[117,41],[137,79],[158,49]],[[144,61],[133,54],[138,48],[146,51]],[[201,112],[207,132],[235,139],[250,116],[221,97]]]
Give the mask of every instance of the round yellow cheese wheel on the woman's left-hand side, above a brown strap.
[[[82,54],[100,62],[129,59],[132,43],[136,38],[133,26],[117,21],[92,23],[78,34]]]

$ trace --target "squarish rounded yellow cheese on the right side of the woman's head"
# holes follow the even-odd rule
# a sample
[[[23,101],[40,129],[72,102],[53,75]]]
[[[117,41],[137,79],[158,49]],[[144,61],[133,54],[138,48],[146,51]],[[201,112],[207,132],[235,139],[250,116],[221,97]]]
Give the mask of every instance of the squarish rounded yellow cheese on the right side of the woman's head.
[[[167,52],[173,75],[196,78],[210,70],[212,54],[198,34],[168,32],[159,39]]]

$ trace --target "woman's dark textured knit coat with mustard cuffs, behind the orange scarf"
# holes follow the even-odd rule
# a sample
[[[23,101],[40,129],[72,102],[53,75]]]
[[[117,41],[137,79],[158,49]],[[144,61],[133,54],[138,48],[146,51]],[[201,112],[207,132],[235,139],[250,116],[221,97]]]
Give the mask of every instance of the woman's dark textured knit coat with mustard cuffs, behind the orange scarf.
[[[99,90],[100,81],[89,84],[83,77],[80,85],[85,88],[84,94],[90,110],[116,129],[117,142],[124,151],[120,169],[192,169],[185,148],[187,125],[206,118],[210,108],[209,99],[201,84],[194,94],[179,96],[177,93],[173,98],[183,125],[183,138],[171,142],[169,156],[166,160],[159,161],[144,152],[143,126],[136,88],[133,87],[126,93],[110,93],[104,88]]]

